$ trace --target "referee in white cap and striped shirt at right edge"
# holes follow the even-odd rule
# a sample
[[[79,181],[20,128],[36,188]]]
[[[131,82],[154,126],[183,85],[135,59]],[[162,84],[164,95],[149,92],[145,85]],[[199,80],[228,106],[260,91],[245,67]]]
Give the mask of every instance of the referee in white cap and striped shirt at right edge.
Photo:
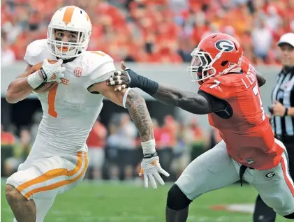
[[[269,110],[274,135],[288,151],[289,171],[294,178],[294,34],[284,34],[277,45],[282,68],[272,90],[272,107]],[[267,207],[258,195],[253,222],[274,222],[275,219],[276,212]]]

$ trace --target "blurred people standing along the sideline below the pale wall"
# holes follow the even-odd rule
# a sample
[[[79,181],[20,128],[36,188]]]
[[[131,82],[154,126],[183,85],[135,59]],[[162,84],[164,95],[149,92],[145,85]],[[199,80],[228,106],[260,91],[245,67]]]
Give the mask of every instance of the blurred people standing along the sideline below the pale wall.
[[[38,133],[41,112],[34,114],[31,126],[3,128],[1,126],[1,167],[2,175],[8,177],[27,158]],[[156,150],[163,169],[170,172],[169,181],[175,181],[194,158],[211,149],[219,142],[219,133],[212,129],[205,133],[196,119],[188,124],[176,121],[167,115],[163,124],[154,124]],[[138,178],[142,148],[138,131],[129,114],[115,114],[108,126],[95,122],[87,139],[89,147],[88,179],[132,180]]]

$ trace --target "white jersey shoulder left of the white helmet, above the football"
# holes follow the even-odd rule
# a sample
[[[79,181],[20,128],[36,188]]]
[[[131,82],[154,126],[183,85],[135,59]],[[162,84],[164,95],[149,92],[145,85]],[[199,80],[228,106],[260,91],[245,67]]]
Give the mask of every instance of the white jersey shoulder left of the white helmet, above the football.
[[[34,40],[27,46],[26,54],[24,55],[24,61],[27,61],[27,64],[34,66],[46,58],[56,59],[47,50],[46,39]]]

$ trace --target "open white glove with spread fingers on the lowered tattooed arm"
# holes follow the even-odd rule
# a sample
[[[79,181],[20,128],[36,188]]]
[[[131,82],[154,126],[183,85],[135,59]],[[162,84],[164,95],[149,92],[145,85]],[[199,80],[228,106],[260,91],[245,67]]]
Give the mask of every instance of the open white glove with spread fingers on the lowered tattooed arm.
[[[157,154],[155,153],[155,155]],[[163,168],[161,168],[158,156],[143,158],[139,175],[144,176],[145,188],[148,188],[149,181],[153,188],[157,188],[155,179],[159,182],[159,184],[164,185],[163,179],[161,178],[161,175],[159,175],[159,173],[165,175],[166,177],[170,176],[170,174],[166,172],[166,170],[163,170]]]

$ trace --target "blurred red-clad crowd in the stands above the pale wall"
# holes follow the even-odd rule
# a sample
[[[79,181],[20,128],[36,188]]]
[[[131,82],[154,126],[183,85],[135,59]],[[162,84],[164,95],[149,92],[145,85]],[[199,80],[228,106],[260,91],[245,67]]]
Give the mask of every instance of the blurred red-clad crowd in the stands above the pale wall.
[[[31,41],[47,38],[57,8],[83,8],[93,24],[89,50],[115,61],[190,61],[203,36],[221,31],[240,40],[255,64],[277,64],[275,43],[294,29],[293,0],[3,0],[1,65],[22,59]]]

